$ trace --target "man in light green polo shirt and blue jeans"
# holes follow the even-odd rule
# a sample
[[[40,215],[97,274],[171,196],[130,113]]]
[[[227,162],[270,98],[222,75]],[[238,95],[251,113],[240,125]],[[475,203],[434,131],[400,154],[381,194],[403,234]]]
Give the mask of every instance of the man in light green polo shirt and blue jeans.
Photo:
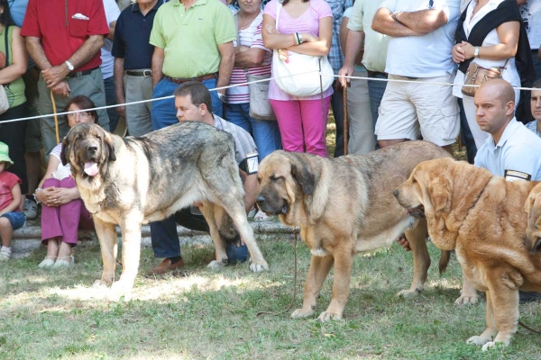
[[[229,85],[234,66],[233,40],[237,37],[231,11],[215,0],[171,0],[158,9],[151,31],[152,98],[170,96],[177,86],[191,80],[208,89]],[[225,89],[213,91],[212,112],[222,116]],[[152,129],[177,122],[172,99],[154,101]],[[209,109],[210,111],[210,109]],[[154,242],[178,241],[175,220],[151,222]],[[163,253],[165,262],[180,265],[179,256]],[[177,260],[177,261],[175,261]]]

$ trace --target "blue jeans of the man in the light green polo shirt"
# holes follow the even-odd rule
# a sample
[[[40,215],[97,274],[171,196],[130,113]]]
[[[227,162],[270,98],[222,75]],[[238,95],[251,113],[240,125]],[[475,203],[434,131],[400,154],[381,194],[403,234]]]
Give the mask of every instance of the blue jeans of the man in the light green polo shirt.
[[[201,84],[205,85],[207,89],[212,89],[216,87],[216,79],[208,79],[201,82]],[[168,80],[166,77],[163,77],[160,82],[154,86],[152,99],[170,96],[177,87],[179,87],[179,85]],[[210,92],[210,95],[212,98],[212,112],[219,117],[222,117],[222,102],[218,98],[218,93],[212,91]],[[179,119],[177,119],[177,109],[175,109],[175,98],[152,102],[151,117],[153,130],[160,130],[166,126],[179,122]]]

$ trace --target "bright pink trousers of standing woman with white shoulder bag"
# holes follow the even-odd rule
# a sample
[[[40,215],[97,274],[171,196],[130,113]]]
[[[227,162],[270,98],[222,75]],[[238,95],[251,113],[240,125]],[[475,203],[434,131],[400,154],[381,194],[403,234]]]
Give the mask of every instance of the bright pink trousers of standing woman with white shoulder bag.
[[[326,122],[331,96],[321,100],[271,100],[286,151],[326,157]]]

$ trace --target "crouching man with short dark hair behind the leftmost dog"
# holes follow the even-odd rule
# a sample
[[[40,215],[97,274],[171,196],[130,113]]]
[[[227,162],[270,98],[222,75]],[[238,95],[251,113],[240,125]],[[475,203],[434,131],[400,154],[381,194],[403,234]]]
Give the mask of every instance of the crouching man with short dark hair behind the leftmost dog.
[[[235,145],[235,158],[239,164],[239,172],[243,179],[244,208],[246,213],[253,208],[255,196],[259,190],[257,181],[257,148],[252,136],[240,126],[225,121],[213,114],[211,94],[206,86],[199,82],[187,82],[180,85],[174,92],[175,108],[179,121],[200,121],[217,129],[225,130],[233,135]],[[182,209],[175,214],[175,220],[179,225],[188,229],[208,232],[208,225],[203,215],[194,204]],[[225,239],[227,242],[227,257],[229,261],[243,261],[248,257],[246,246],[240,239]],[[175,268],[184,266],[180,257],[179,237],[175,238],[154,238],[152,237],[152,249],[155,257],[166,257],[159,266],[151,269],[147,275],[161,275]]]

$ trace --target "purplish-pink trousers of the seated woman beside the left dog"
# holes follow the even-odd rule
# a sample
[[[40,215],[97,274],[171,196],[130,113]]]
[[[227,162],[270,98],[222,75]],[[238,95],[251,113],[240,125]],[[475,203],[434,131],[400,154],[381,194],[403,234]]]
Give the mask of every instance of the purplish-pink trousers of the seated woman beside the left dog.
[[[70,189],[75,187],[75,180],[71,177],[45,180],[43,188],[50,186]],[[41,204],[41,244],[47,245],[50,238],[59,238],[76,246],[79,224],[84,229],[94,228],[92,216],[81,199],[60,206]]]

